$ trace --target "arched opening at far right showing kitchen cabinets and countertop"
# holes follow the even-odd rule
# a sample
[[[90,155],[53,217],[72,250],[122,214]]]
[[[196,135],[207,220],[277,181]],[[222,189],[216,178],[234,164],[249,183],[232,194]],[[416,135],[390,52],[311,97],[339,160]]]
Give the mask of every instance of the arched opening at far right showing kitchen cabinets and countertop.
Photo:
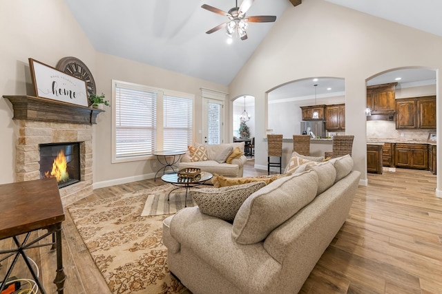
[[[374,112],[369,110],[376,103],[382,106]],[[392,104],[391,114],[385,115],[389,104]],[[367,143],[384,143],[381,158],[384,170],[405,167],[427,169],[435,174],[436,125],[435,70],[402,67],[367,79]],[[407,151],[416,143],[432,144],[417,157],[416,152]],[[396,148],[397,144],[401,148]]]

